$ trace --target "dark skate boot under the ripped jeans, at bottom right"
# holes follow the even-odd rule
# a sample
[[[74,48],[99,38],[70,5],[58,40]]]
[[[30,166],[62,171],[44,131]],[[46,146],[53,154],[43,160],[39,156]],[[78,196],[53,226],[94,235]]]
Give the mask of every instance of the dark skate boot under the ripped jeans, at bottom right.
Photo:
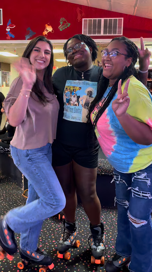
[[[125,268],[126,271],[129,271],[127,267],[130,263],[130,260],[130,257],[122,257],[115,252],[114,255],[111,256],[111,258],[107,261],[105,270],[106,272],[120,272]]]

